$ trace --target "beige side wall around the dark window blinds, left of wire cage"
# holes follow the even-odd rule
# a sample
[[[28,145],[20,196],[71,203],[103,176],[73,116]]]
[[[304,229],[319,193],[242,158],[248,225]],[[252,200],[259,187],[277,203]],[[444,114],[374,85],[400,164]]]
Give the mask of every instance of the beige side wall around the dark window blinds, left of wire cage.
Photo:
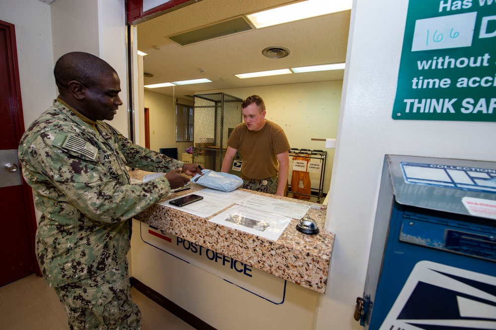
[[[192,101],[178,99],[177,103],[192,105]],[[144,91],[144,106],[150,116],[150,149],[157,152],[160,148],[178,148],[178,158],[192,142],[176,142],[176,106],[170,96]],[[142,124],[144,126],[144,124]]]

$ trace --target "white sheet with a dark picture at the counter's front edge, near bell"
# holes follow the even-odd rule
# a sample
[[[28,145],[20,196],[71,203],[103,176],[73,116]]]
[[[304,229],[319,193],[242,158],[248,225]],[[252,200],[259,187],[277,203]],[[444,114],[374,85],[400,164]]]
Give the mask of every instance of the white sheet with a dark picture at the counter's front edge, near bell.
[[[276,241],[291,218],[235,205],[210,221]]]

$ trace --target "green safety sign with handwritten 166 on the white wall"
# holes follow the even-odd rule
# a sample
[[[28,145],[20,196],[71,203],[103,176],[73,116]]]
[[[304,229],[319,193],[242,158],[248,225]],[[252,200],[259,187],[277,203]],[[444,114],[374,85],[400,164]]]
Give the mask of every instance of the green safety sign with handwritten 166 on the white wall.
[[[496,121],[496,0],[410,0],[393,119]]]

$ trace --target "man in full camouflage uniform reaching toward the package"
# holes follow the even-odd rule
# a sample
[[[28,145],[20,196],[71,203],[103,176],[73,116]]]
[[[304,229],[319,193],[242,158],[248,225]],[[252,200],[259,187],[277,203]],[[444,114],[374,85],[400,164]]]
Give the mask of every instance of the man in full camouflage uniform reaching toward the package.
[[[127,274],[128,219],[185,185],[181,172],[201,171],[131,143],[102,121],[122,105],[119,76],[104,60],[68,53],[54,75],[59,97],[26,130],[18,151],[42,213],[40,268],[70,329],[139,329]],[[126,166],[167,174],[130,184]]]

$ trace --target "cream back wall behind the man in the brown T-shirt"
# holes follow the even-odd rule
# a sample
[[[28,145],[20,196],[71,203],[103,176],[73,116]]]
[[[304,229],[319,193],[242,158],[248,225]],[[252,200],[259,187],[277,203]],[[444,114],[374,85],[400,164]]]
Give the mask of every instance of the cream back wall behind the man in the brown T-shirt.
[[[336,138],[343,81],[322,81],[277,86],[233,88],[217,91],[195,91],[195,94],[224,92],[246,99],[259,95],[267,114],[265,118],[284,129],[291,148],[327,151],[323,191],[327,193],[331,180],[334,149],[325,149],[325,142],[312,138]],[[289,183],[291,183],[292,162]],[[319,174],[310,175],[312,188],[318,188]],[[323,200],[321,200],[322,202]]]

